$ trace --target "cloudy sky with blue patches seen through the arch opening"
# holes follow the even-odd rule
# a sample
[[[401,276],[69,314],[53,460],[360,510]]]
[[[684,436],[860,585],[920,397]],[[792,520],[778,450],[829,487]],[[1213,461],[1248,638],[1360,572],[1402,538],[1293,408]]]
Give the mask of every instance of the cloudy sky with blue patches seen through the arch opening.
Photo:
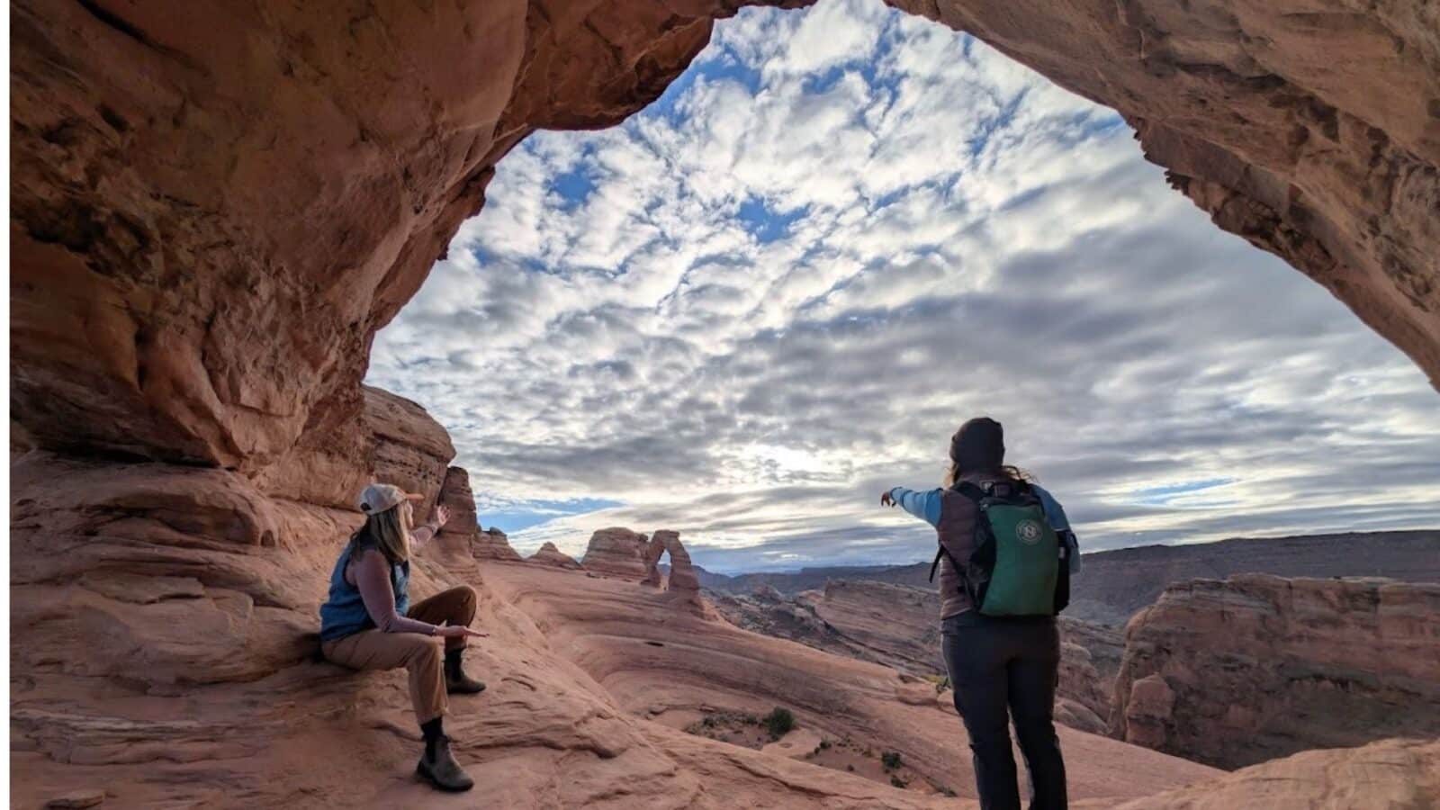
[[[929,559],[878,496],[979,414],[1087,551],[1440,525],[1418,369],[1112,111],[878,0],[742,12],[621,127],[527,140],[369,382],[524,552]]]

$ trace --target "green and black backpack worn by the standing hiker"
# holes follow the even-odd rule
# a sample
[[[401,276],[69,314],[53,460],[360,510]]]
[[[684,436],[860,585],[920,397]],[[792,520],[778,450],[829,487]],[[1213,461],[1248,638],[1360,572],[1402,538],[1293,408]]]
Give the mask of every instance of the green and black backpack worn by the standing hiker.
[[[962,481],[955,491],[975,502],[975,551],[962,565],[965,592],[984,615],[1057,615],[1070,602],[1067,548],[1045,517],[1040,496],[1024,481],[995,481],[984,489]],[[940,555],[949,556],[942,545]]]

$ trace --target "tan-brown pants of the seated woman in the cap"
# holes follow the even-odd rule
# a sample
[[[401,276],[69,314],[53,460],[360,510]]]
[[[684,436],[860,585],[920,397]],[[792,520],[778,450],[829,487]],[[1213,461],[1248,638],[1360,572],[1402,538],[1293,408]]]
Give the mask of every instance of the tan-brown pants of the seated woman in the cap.
[[[475,589],[469,585],[451,588],[410,605],[405,614],[431,624],[469,626],[475,618]],[[419,633],[382,633],[363,630],[320,646],[327,659],[350,669],[410,670],[410,702],[420,724],[444,716],[449,700],[445,695],[445,650],[461,650],[465,638],[439,638]]]

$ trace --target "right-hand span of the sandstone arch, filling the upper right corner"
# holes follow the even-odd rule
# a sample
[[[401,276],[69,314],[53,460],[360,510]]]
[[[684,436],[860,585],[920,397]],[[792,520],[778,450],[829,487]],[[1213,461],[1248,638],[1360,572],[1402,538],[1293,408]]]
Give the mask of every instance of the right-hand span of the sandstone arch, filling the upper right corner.
[[[1220,228],[1440,386],[1440,16],[1382,6],[893,0],[1117,110]]]

